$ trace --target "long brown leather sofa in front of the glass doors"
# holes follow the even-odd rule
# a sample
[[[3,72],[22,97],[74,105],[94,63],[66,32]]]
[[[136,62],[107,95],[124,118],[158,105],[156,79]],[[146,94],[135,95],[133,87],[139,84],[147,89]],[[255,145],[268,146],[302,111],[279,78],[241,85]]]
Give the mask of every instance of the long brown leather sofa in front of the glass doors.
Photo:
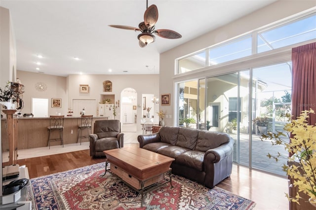
[[[165,126],[137,140],[141,148],[174,158],[173,174],[208,188],[232,173],[234,140],[226,133]]]

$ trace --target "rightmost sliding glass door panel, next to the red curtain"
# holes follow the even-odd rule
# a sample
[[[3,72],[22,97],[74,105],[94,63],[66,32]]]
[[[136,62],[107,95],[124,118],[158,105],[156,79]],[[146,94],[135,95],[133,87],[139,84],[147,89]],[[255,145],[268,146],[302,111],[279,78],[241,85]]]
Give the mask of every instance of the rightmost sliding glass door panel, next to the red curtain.
[[[282,116],[291,113],[291,90],[292,74],[291,63],[281,63],[253,69],[253,89],[254,92],[254,119],[262,120],[253,123],[252,131],[252,168],[265,170],[278,175],[286,175],[281,171],[281,167],[286,163],[286,159],[274,159],[267,157],[268,153],[287,156],[287,152],[282,145],[272,145],[270,140],[261,140],[261,134],[267,132],[284,132],[283,126],[287,119]],[[282,137],[288,141],[288,137]]]

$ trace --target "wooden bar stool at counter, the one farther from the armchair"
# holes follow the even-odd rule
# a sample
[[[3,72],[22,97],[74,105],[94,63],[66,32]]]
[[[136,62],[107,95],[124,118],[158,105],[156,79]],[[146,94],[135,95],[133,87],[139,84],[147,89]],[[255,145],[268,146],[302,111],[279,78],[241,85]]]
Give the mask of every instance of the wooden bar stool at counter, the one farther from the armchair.
[[[50,115],[48,129],[48,145],[50,149],[50,141],[60,141],[64,147],[63,129],[64,129],[64,115]],[[59,138],[52,139],[52,132],[59,131]]]

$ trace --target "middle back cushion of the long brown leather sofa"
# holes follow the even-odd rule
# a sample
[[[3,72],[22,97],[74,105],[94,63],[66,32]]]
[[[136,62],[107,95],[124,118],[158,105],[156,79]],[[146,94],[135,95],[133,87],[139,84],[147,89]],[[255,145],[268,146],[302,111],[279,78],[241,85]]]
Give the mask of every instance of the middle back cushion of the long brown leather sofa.
[[[181,146],[193,150],[197,144],[197,129],[180,128],[176,146]]]

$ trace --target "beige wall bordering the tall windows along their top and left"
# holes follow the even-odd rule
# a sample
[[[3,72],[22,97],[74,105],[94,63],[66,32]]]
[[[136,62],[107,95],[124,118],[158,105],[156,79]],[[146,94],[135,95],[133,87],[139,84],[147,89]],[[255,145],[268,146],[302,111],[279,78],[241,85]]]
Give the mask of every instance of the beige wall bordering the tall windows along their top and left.
[[[161,53],[159,61],[159,92],[171,93],[171,105],[163,108],[166,109],[167,114],[172,114],[172,119],[166,118],[165,124],[175,124],[176,117],[174,113],[176,113],[177,107],[174,104],[176,104],[175,96],[177,94],[175,93],[174,82],[200,78],[200,75],[197,74],[187,74],[182,77],[175,76],[175,59],[235,36],[251,32],[315,6],[316,3],[314,0],[279,0],[226,26]],[[212,75],[212,72],[208,73],[208,75]]]

